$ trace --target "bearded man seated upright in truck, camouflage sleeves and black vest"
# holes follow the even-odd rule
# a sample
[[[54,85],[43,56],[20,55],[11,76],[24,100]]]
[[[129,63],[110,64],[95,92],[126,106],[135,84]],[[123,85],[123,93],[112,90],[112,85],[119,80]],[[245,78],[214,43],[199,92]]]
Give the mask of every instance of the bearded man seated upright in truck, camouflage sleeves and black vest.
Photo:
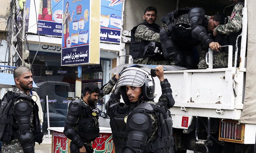
[[[150,64],[150,65],[170,65],[170,62],[162,59],[155,59],[144,56],[144,47],[151,41],[160,44],[159,39],[159,25],[156,22],[157,11],[155,7],[149,6],[145,9],[143,19],[144,21],[135,26],[132,32],[132,44],[130,45],[130,54],[132,55],[135,64]],[[134,45],[140,46],[139,48]],[[133,49],[134,48],[134,49]]]

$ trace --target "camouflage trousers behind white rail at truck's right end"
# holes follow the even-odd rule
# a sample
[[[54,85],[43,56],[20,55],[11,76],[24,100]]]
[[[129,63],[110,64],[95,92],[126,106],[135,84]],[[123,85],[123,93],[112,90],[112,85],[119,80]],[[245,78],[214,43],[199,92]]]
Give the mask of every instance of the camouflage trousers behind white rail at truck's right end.
[[[205,62],[206,53],[207,53],[207,51],[202,50],[201,55],[200,55],[200,61],[197,64],[198,69],[207,69],[208,68],[208,65]],[[233,60],[233,65],[234,65],[234,60]],[[215,69],[227,68],[228,67],[228,54],[225,52],[222,52],[222,53],[213,55],[212,56],[212,67]]]

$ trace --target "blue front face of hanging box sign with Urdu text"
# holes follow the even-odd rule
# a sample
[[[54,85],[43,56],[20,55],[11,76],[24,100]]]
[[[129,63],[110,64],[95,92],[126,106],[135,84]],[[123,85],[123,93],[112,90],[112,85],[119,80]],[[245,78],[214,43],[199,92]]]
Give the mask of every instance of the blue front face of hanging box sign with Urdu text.
[[[89,62],[90,0],[63,0],[61,65]]]

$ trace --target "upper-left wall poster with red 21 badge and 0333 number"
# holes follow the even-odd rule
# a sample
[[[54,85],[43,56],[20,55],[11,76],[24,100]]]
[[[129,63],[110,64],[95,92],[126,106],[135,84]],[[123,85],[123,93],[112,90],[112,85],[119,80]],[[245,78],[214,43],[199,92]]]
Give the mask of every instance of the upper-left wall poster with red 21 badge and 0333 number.
[[[39,0],[37,33],[61,36],[62,0]]]

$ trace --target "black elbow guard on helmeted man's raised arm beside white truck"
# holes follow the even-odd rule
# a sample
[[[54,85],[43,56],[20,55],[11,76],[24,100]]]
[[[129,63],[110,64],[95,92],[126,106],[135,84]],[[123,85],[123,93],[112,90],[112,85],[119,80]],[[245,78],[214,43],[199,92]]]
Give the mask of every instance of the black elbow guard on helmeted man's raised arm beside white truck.
[[[169,101],[166,103],[166,106],[167,106],[168,108],[171,108],[171,107],[174,105],[175,101],[174,101],[174,99],[173,99],[173,97],[172,97],[171,85],[170,85],[170,83],[168,82],[167,79],[164,79],[163,84],[161,84],[161,88],[162,88],[162,94],[166,94],[166,95],[167,95],[167,98],[168,98],[168,100],[169,100]]]

